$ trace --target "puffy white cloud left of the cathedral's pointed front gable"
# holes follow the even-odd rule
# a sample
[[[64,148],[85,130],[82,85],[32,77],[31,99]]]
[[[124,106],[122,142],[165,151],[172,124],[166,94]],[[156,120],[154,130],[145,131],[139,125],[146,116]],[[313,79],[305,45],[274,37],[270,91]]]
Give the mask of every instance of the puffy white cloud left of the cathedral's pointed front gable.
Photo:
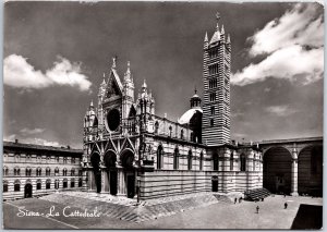
[[[10,54],[3,61],[3,83],[11,87],[33,89],[53,85],[77,87],[81,91],[88,90],[92,83],[81,73],[81,63],[71,63],[58,56],[53,66],[43,73],[27,62],[26,58]]]

